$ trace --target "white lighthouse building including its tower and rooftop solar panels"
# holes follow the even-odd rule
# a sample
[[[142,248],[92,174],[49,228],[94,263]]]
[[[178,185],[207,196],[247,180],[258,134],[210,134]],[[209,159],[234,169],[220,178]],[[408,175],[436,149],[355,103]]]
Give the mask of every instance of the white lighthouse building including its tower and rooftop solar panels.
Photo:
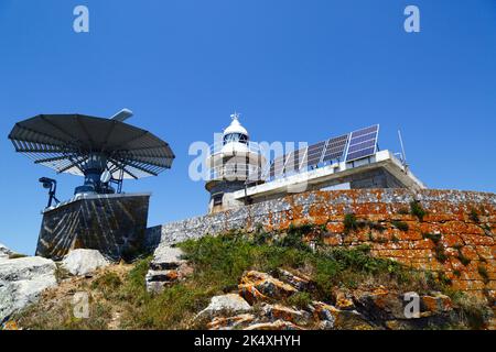
[[[267,162],[238,114],[207,158],[208,212],[317,189],[425,188],[403,161],[377,146],[379,125],[292,151]]]

